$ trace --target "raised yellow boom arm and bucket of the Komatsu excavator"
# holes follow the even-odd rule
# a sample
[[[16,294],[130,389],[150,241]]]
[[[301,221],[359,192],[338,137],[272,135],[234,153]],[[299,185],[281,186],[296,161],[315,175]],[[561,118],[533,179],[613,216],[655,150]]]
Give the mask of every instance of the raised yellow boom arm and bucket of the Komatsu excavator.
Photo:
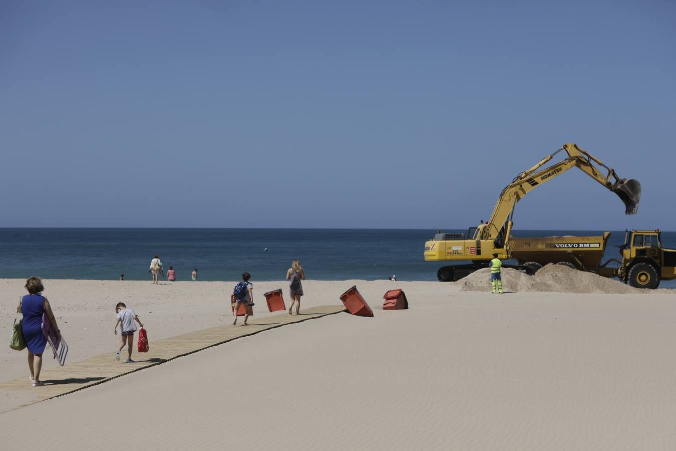
[[[562,150],[568,153],[568,158],[541,169],[544,164],[554,158],[556,153]],[[600,169],[594,166],[594,163],[605,168],[608,171],[607,174],[603,175]],[[592,177],[592,179],[616,193],[625,204],[626,214],[635,214],[637,212],[639,200],[641,199],[641,184],[634,179],[620,179],[612,168],[608,168],[598,158],[580,149],[577,145],[568,143],[564,144],[563,147],[552,153],[552,155],[548,155],[540,160],[538,164],[529,170],[518,174],[512,183],[502,190],[496,207],[493,208],[491,218],[487,223],[479,226],[475,236],[479,239],[496,239],[500,235],[500,231],[503,230],[504,224],[510,219],[514,207],[523,196],[574,167],[579,168],[585,174]]]

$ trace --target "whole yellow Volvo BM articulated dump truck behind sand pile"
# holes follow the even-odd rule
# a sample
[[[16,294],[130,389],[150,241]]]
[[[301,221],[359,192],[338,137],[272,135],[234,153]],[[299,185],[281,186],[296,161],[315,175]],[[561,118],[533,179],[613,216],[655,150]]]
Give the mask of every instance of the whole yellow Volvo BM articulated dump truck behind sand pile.
[[[620,258],[601,264],[608,238],[610,232],[600,237],[512,237],[512,258],[518,262],[513,267],[532,275],[548,263],[564,264],[648,289],[676,279],[676,250],[662,247],[659,229],[626,231]]]

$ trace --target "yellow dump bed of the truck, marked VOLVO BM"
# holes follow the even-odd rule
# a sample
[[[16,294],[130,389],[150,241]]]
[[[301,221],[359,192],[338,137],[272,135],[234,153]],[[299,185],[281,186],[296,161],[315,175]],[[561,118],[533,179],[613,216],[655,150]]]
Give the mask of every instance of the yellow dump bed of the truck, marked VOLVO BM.
[[[510,237],[510,254],[518,264],[569,262],[583,270],[598,270],[610,232],[600,237]]]

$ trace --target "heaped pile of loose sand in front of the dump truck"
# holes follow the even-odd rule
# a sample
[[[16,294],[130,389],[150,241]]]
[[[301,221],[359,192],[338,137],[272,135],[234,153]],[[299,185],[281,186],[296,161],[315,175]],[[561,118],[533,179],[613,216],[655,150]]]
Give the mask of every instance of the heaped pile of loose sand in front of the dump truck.
[[[487,291],[490,269],[483,268],[455,282],[460,291]],[[512,268],[502,269],[504,291],[548,291],[558,293],[646,293],[650,290],[633,288],[617,279],[601,277],[560,264],[548,264],[529,276]]]

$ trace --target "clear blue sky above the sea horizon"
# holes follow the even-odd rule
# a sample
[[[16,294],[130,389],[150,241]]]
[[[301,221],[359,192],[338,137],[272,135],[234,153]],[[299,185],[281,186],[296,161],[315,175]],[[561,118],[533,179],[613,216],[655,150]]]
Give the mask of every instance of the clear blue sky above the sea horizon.
[[[676,230],[676,3],[0,3],[0,227]]]

